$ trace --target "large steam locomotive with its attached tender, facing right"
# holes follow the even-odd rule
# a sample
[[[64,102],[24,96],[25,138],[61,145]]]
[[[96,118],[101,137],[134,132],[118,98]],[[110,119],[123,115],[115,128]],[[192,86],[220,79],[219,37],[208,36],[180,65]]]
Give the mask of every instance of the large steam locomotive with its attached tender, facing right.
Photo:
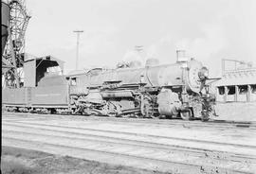
[[[2,104],[9,111],[203,121],[214,114],[215,97],[206,85],[209,71],[200,61],[159,65],[148,60],[145,67],[134,61],[116,69],[60,76],[47,73],[56,60],[42,60],[27,61],[25,67],[33,67],[28,68],[24,87],[3,89]]]

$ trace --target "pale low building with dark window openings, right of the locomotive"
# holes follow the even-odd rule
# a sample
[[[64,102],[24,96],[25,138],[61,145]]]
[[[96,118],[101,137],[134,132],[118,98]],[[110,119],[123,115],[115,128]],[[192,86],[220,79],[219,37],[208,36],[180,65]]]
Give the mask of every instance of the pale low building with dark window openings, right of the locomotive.
[[[227,69],[227,62],[233,64]],[[251,63],[222,60],[222,78],[213,84],[219,102],[256,101],[256,67]]]

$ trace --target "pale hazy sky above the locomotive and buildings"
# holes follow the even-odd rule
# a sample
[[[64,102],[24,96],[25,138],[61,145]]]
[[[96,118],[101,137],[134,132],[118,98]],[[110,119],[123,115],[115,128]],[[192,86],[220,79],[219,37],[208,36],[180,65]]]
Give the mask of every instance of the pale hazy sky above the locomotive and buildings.
[[[211,77],[221,59],[256,66],[255,0],[27,0],[32,16],[26,52],[76,67],[74,30],[80,36],[79,69],[115,67],[119,61],[149,58],[174,63],[176,50],[202,61]],[[142,45],[138,54],[136,45]]]

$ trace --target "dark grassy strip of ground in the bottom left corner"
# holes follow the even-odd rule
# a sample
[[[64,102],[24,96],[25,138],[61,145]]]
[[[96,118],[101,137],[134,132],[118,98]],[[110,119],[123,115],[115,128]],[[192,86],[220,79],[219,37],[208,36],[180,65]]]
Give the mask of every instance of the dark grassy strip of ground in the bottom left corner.
[[[23,148],[2,147],[3,174],[163,174],[122,165],[107,165]]]

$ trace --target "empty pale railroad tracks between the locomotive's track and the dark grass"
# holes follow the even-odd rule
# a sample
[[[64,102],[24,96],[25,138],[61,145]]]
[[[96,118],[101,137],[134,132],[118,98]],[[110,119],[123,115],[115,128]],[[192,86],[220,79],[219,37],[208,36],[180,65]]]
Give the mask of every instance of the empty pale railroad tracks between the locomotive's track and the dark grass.
[[[40,120],[35,123],[36,119],[21,121],[16,117],[12,118],[3,119],[4,145],[43,149],[46,152],[100,162],[109,163],[111,159],[113,161],[110,163],[114,164],[121,163],[174,173],[253,173],[253,170],[244,167],[255,167],[256,164],[254,146],[76,128]],[[190,146],[185,146],[188,143]],[[222,147],[231,148],[233,151],[221,151]],[[243,150],[246,150],[247,154],[238,153]]]

